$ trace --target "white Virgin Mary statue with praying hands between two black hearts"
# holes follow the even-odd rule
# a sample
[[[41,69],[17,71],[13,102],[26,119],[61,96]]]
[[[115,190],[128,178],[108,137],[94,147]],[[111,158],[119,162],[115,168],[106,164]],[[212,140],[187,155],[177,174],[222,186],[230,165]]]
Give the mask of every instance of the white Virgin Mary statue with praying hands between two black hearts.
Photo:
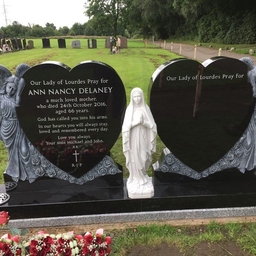
[[[152,153],[156,151],[156,134],[156,124],[145,103],[144,93],[140,88],[134,88],[122,127],[123,152],[130,173],[127,181],[130,198],[154,196],[154,187],[147,170]]]

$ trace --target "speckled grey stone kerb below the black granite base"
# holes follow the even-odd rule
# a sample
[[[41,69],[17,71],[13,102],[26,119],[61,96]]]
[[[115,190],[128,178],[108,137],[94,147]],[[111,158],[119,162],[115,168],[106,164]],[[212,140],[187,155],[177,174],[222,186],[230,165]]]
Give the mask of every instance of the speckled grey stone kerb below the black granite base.
[[[154,212],[132,212],[97,214],[82,216],[50,217],[36,219],[10,220],[9,225],[16,228],[36,228],[52,226],[73,226],[97,223],[157,221],[190,218],[241,217],[256,215],[256,207],[215,208],[195,210],[173,210]]]

